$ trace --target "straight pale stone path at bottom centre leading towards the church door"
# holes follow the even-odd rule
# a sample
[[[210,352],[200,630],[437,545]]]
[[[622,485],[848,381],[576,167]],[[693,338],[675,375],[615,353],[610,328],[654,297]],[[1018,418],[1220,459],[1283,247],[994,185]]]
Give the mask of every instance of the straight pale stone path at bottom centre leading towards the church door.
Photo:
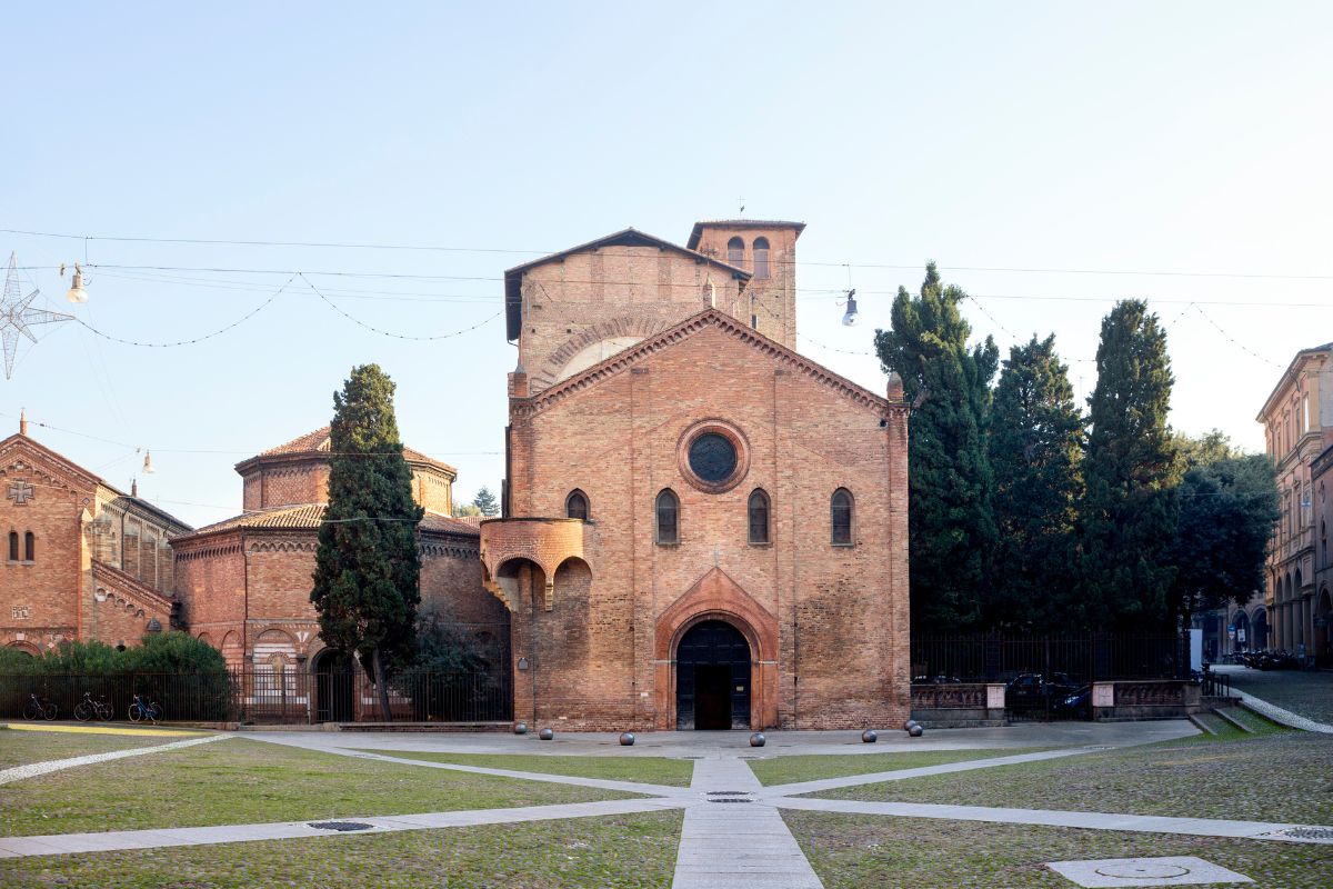
[[[700,760],[690,790],[698,802],[685,809],[673,889],[822,889],[742,760]]]

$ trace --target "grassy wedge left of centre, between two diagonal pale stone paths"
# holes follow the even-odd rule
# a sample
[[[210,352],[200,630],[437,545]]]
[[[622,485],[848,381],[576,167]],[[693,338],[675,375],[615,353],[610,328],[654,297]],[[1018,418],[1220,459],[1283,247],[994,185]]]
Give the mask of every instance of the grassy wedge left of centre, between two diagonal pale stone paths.
[[[633,796],[228,738],[0,785],[0,824],[5,836],[31,836],[492,809]]]

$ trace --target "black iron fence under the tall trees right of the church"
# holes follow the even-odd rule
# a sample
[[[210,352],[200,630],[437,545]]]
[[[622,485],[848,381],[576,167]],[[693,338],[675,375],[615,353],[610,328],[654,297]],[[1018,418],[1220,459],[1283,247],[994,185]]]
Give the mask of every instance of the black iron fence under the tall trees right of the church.
[[[913,682],[1012,682],[1057,676],[1070,682],[1176,678],[1182,637],[1152,633],[1089,636],[922,636],[912,638]]]

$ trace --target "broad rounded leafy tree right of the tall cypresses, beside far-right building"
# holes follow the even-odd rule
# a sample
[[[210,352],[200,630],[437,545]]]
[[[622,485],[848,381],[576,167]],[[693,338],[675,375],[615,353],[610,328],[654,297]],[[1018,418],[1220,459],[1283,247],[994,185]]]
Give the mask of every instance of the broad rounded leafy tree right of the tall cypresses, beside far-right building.
[[[1277,470],[1266,454],[1242,454],[1220,432],[1180,443],[1192,462],[1181,481],[1173,613],[1237,605],[1264,586],[1264,557],[1278,520]]]

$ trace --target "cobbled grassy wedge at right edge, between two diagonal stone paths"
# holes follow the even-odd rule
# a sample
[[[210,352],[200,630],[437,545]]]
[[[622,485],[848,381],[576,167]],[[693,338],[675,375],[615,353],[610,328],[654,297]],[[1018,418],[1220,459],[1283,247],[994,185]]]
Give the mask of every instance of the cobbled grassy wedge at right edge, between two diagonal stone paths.
[[[1304,732],[1236,734],[870,784],[818,796],[1333,825],[1333,737]]]

